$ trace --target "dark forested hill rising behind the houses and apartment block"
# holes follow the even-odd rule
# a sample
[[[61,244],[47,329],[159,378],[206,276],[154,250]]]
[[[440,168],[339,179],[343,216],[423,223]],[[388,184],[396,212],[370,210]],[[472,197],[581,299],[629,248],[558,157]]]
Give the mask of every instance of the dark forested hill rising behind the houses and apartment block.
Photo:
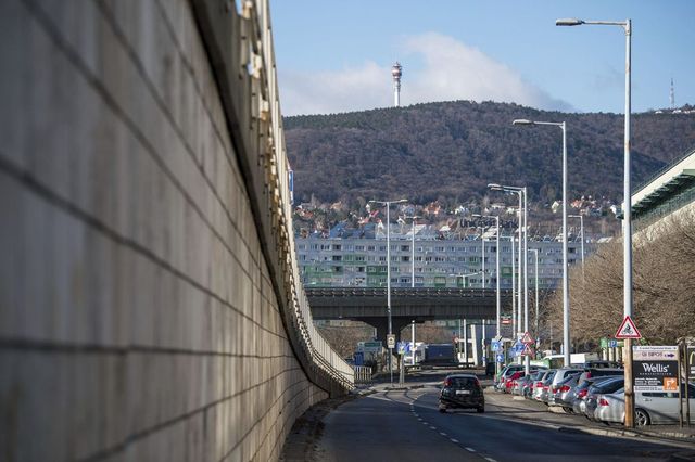
[[[559,198],[559,127],[513,126],[517,118],[567,121],[572,195],[622,197],[622,115],[456,101],[286,118],[296,201],[451,204],[485,194],[490,182],[526,184],[533,200]],[[695,114],[633,114],[633,185],[693,146]]]

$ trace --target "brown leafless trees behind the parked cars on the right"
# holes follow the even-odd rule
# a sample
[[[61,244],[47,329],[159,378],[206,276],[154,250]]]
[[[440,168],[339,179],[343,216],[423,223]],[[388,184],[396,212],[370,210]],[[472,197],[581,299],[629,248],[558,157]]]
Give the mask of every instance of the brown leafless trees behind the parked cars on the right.
[[[652,343],[695,332],[695,209],[681,210],[633,241],[633,318]],[[612,337],[623,318],[622,243],[604,244],[584,267],[571,269],[572,342]],[[544,324],[561,326],[563,294],[546,299]]]

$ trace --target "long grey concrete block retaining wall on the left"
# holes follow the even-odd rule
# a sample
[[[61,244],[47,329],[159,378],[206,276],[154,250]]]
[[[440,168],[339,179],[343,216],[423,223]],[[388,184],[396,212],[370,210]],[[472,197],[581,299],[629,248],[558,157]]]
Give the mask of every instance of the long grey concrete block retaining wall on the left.
[[[0,30],[0,460],[277,459],[330,388],[193,8],[7,0]]]

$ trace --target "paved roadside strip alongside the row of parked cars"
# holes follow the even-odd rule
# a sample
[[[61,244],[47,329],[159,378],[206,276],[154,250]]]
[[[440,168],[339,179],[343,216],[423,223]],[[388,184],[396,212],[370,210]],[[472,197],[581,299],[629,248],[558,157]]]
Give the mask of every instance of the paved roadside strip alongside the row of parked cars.
[[[695,424],[688,427],[684,425],[648,425],[639,428],[626,428],[620,424],[607,425],[602,422],[593,422],[583,415],[569,414],[559,408],[551,411],[542,402],[528,400],[518,396],[513,396],[494,390],[492,387],[485,388],[488,402],[506,408],[514,412],[515,419],[527,420],[529,423],[556,427],[559,432],[581,432],[599,436],[611,437],[650,437],[668,439],[681,442],[690,442],[695,449]],[[695,455],[695,453],[694,453]]]

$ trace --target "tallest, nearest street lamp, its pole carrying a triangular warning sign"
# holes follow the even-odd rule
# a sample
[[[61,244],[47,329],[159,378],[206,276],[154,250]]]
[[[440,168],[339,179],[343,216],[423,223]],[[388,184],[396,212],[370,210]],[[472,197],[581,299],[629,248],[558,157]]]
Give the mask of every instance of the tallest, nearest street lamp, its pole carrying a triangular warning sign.
[[[631,73],[632,73],[632,20],[626,21],[583,21],[577,18],[557,20],[557,26],[579,26],[582,24],[599,26],[620,26],[626,33],[626,121],[624,121],[624,168],[623,168],[623,207],[622,207],[622,265],[623,265],[623,316],[632,317],[632,187],[630,182],[630,112],[631,112]],[[626,339],[626,426],[634,427],[634,394],[632,389],[632,341]]]

